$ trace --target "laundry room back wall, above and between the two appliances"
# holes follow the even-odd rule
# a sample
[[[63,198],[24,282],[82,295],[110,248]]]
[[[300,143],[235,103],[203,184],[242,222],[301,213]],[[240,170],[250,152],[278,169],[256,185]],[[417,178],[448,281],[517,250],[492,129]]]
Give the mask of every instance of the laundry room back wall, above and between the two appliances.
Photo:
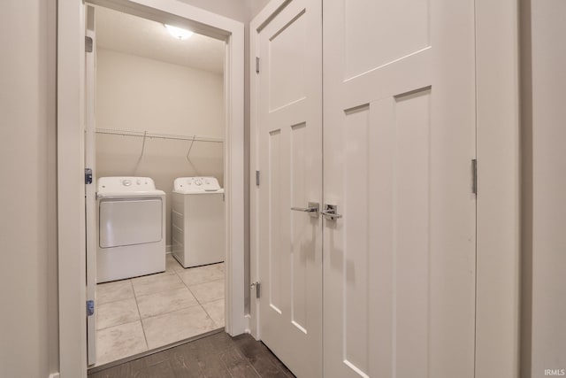
[[[223,76],[119,51],[96,50],[96,127],[164,135],[223,138]],[[181,176],[214,176],[223,186],[224,144],[96,135],[96,176],[147,176],[167,193],[171,245],[171,193]]]

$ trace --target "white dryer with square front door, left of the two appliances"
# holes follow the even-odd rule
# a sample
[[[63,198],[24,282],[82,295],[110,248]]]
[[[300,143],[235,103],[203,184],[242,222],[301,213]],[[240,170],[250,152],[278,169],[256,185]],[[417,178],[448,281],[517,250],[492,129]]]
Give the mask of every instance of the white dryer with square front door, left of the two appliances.
[[[98,179],[96,281],[165,270],[165,193],[149,177]]]

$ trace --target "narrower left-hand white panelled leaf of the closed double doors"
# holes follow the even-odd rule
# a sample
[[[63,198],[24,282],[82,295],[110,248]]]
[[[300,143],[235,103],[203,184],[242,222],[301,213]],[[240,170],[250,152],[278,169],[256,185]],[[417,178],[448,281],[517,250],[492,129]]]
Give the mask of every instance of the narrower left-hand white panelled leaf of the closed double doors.
[[[322,375],[321,18],[294,0],[259,31],[259,328],[301,377]]]

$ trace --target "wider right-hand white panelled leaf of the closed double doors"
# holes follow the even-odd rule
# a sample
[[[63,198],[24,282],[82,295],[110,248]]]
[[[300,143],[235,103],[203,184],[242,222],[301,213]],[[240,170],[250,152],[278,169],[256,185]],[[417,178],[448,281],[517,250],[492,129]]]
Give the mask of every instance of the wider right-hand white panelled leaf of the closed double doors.
[[[473,0],[324,4],[325,377],[473,377]]]

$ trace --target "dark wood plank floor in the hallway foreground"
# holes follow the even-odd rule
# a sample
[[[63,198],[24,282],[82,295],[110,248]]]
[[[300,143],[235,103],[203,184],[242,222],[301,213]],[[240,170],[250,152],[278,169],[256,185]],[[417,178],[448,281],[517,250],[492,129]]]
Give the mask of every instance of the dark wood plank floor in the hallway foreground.
[[[280,377],[294,375],[264,343],[225,332],[88,374],[88,378]]]

